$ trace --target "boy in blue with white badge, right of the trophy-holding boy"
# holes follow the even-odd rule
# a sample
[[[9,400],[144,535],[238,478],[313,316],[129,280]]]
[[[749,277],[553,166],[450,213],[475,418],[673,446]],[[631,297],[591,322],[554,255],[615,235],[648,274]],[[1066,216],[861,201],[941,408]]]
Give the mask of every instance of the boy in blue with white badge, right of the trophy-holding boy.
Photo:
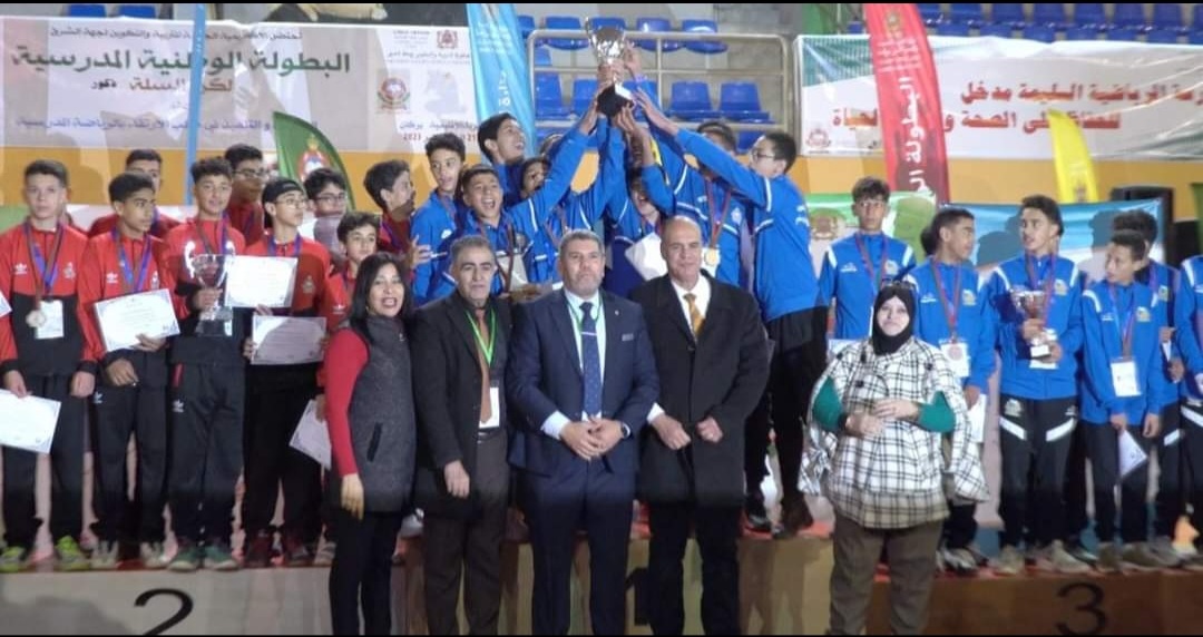
[[[1154,317],[1156,293],[1136,281],[1146,256],[1144,237],[1119,231],[1107,246],[1107,280],[1083,293],[1085,329],[1081,383],[1081,419],[1095,486],[1095,532],[1098,535],[1098,568],[1160,568],[1149,549],[1149,511],[1145,496],[1148,464],[1124,475],[1120,457],[1125,447],[1145,454],[1161,433],[1161,407],[1166,375],[1161,353],[1161,322]],[[1120,484],[1120,538],[1115,540],[1115,486]]]

